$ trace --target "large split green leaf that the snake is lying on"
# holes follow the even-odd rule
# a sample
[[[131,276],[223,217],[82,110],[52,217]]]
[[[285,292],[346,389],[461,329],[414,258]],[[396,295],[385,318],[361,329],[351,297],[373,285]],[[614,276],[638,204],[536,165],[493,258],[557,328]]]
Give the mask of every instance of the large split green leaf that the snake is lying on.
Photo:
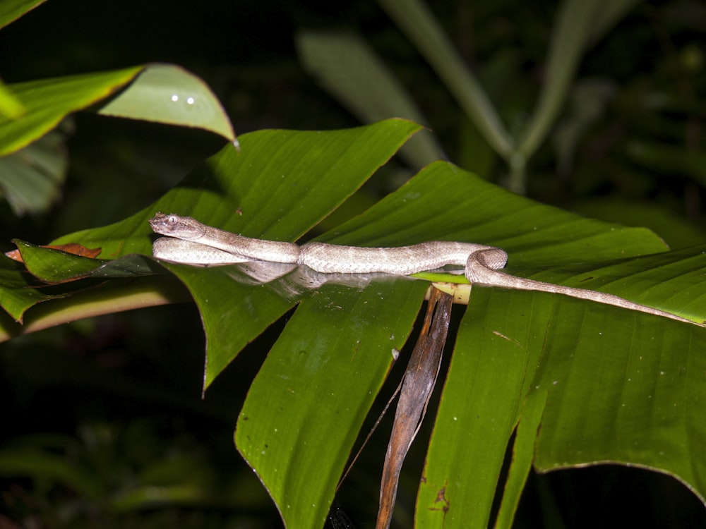
[[[392,120],[328,133],[244,135],[241,152],[227,146],[155,205],[57,242],[100,246],[107,258],[149,253],[147,219],[157,210],[191,214],[249,236],[294,241],[417,128]],[[650,231],[539,205],[445,162],[426,167],[320,238],[357,245],[488,243],[508,250],[512,274],[608,291],[706,320],[703,248],[669,252]],[[37,253],[32,270],[61,279],[61,260],[42,272],[40,251],[52,252],[23,248],[30,261]],[[123,257],[112,266],[139,274],[134,259]],[[75,278],[72,267],[95,273],[74,257],[65,264],[66,277]],[[201,311],[208,343],[205,387],[241,348],[299,303],[253,382],[236,442],[289,528],[321,526],[364,415],[409,334],[426,281],[306,286],[297,282],[302,272],[294,271],[260,284],[243,265],[166,266]],[[74,283],[80,288],[81,281]],[[694,403],[705,397],[699,345],[705,332],[695,324],[587,300],[474,286],[419,490],[419,524],[486,527],[516,427],[515,464],[498,526],[510,523],[535,449],[542,469],[638,464],[676,475],[703,497],[706,468],[698,446],[706,442],[700,426],[706,418]],[[660,413],[675,403],[683,413]],[[635,427],[642,418],[644,427]]]

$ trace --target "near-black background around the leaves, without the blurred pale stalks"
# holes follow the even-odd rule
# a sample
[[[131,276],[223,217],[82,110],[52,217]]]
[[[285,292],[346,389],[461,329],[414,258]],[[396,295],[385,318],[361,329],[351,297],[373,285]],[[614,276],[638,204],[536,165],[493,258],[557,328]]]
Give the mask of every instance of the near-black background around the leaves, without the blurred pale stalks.
[[[433,13],[515,130],[541,86],[556,3],[443,0]],[[414,95],[450,161],[479,169],[468,154],[469,121],[373,1],[49,0],[0,30],[0,75],[17,83],[172,62],[213,88],[239,134],[356,126],[300,66],[294,35],[307,29],[363,35]],[[706,178],[671,158],[646,163],[633,150],[638,141],[669,145],[684,159],[701,152],[705,29],[699,2],[645,2],[592,47],[578,78],[602,79],[614,92],[570,164],[551,138],[544,142],[528,167],[528,195],[648,225],[674,247],[705,242]],[[572,113],[567,105],[562,118],[570,121]],[[90,112],[67,128],[70,164],[60,200],[23,217],[0,205],[1,250],[11,249],[14,237],[44,243],[122,219],[223,145],[198,130]],[[481,176],[502,183],[501,160],[484,167]],[[234,449],[232,430],[277,331],[268,329],[246,349],[203,400],[203,331],[191,305],[76,322],[4,344],[0,449],[24,449],[26,467],[0,475],[0,528],[276,527],[277,512]],[[395,385],[383,391],[385,399]],[[383,422],[373,435],[337,497],[358,528],[374,526],[389,428]],[[70,462],[80,476],[54,472],[52,458]],[[402,478],[398,527],[414,512],[423,458],[422,436]],[[140,488],[145,480],[161,483],[163,496]],[[671,478],[599,467],[532,475],[516,526],[618,527],[625,520],[706,525],[703,506]]]

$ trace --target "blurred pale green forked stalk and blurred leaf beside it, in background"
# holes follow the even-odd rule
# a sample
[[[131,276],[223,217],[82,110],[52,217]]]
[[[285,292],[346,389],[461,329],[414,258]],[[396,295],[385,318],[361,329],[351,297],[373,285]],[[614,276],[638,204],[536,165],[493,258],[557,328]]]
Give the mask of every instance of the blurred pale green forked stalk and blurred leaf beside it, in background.
[[[480,137],[505,161],[508,188],[522,194],[527,187],[527,162],[559,118],[582,56],[637,3],[566,0],[560,4],[537,107],[520,130],[510,133],[429,8],[421,0],[380,1],[443,80]],[[299,35],[299,50],[309,71],[362,120],[400,116],[426,121],[405,89],[356,37],[304,32]],[[420,167],[440,158],[441,150],[431,135],[422,136],[410,145],[408,157]]]

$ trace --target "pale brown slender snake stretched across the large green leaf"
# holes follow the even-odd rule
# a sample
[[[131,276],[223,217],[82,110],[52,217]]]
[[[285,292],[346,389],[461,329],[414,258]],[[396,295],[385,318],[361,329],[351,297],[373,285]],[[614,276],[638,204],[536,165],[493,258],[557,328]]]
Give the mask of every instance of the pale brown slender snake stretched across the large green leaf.
[[[152,255],[169,262],[228,265],[265,261],[304,265],[323,274],[381,272],[401,276],[457,265],[463,267],[466,279],[471,284],[561,294],[671,320],[696,323],[613,294],[507,274],[501,269],[508,262],[508,254],[495,246],[455,241],[427,241],[392,248],[366,248],[316,241],[300,246],[296,243],[241,236],[177,214],[157,212],[149,222],[152,231],[164,236],[152,244]]]

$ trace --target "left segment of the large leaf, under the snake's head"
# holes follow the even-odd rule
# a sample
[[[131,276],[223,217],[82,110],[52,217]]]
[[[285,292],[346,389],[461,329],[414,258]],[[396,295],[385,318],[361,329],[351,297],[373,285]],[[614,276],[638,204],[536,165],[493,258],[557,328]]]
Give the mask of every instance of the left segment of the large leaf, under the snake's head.
[[[148,219],[157,211],[188,214],[248,236],[294,241],[352,195],[419,128],[393,119],[328,133],[244,135],[240,152],[227,145],[155,205],[118,224],[55,242],[100,247],[102,257],[150,254]],[[189,287],[201,310],[208,336],[204,389],[303,295],[289,293],[286,281],[253,287],[237,266],[166,266]],[[239,323],[224,326],[224,318]]]

